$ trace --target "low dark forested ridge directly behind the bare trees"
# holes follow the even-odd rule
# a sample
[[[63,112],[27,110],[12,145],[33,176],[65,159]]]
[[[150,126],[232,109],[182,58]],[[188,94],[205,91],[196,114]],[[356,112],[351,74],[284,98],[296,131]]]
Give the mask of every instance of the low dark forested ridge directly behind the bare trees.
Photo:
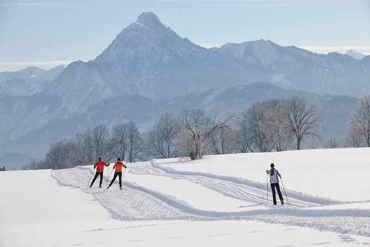
[[[349,96],[319,95],[305,91],[287,90],[268,82],[254,82],[247,85],[229,87],[227,89],[209,89],[202,93],[188,94],[182,97],[168,99],[150,99],[140,95],[120,95],[127,100],[120,102],[112,96],[89,106],[89,109],[80,114],[62,117],[55,114],[53,107],[43,107],[36,104],[33,109],[24,111],[24,115],[18,119],[36,115],[38,119],[49,117],[44,125],[37,127],[36,123],[29,121],[28,124],[37,127],[28,131],[21,137],[8,139],[6,143],[0,143],[0,149],[7,152],[32,153],[46,152],[49,143],[59,142],[63,138],[69,138],[76,132],[84,132],[89,127],[103,124],[108,128],[122,122],[134,121],[141,132],[152,130],[160,116],[165,112],[176,113],[182,108],[201,108],[212,111],[215,104],[222,102],[225,111],[240,112],[248,108],[254,102],[273,98],[288,98],[293,95],[306,98],[310,103],[316,103],[325,117],[324,125],[332,133],[344,134],[345,119],[358,99]],[[28,102],[34,102],[35,96],[26,98]],[[40,97],[40,96],[39,96]],[[335,103],[330,103],[335,102]],[[2,100],[0,99],[0,104]],[[57,104],[57,103],[56,103]],[[44,109],[44,111],[40,111]],[[29,111],[29,112],[28,112]],[[48,112],[50,113],[48,115]],[[16,120],[16,121],[20,121]],[[14,122],[16,122],[14,121]],[[27,123],[27,122],[26,122]],[[13,123],[13,126],[15,124]],[[28,129],[27,125],[17,127]],[[7,129],[9,135],[17,130]],[[40,146],[42,143],[42,147]],[[1,155],[1,154],[0,154]],[[41,154],[40,154],[41,156]]]

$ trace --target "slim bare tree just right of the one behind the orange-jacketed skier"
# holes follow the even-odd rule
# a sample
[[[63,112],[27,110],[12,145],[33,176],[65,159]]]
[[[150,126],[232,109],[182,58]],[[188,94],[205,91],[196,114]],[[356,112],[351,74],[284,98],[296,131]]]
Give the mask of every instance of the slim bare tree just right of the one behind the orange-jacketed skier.
[[[143,152],[142,139],[134,122],[128,123],[127,126],[128,139],[128,162],[132,163],[141,158]]]

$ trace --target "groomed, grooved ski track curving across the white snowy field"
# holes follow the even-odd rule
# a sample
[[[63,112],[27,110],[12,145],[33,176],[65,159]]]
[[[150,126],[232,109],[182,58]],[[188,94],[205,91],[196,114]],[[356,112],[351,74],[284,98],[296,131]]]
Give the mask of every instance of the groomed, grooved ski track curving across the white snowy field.
[[[54,170],[51,176],[62,186],[68,186],[71,189],[79,188],[85,193],[90,193],[94,196],[94,200],[99,201],[109,211],[112,218],[118,220],[253,220],[370,237],[370,210],[368,209],[309,209],[314,206],[345,203],[341,201],[286,190],[291,206],[268,204],[268,209],[238,212],[207,211],[194,208],[171,195],[165,195],[130,182],[122,182],[123,187],[130,189],[119,190],[118,181],[115,181],[111,188],[104,191],[96,188],[99,184],[98,178],[95,181],[95,187],[87,188],[87,178],[93,172],[91,166],[77,166],[71,169]],[[242,178],[177,171],[157,165],[153,161],[128,163],[127,172],[165,176],[174,180],[188,180],[226,197],[251,202],[255,205],[266,204],[266,185]],[[102,186],[106,187],[106,176],[104,176]],[[269,200],[271,200],[270,195]]]

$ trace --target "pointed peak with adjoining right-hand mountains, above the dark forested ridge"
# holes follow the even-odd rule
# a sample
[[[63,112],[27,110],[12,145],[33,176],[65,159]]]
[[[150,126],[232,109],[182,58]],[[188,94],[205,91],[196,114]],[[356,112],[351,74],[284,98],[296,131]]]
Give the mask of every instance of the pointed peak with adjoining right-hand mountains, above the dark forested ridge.
[[[96,59],[67,66],[45,94],[61,100],[66,116],[112,95],[160,99],[256,81],[360,97],[370,92],[369,70],[348,56],[319,55],[266,40],[206,49],[144,12]]]

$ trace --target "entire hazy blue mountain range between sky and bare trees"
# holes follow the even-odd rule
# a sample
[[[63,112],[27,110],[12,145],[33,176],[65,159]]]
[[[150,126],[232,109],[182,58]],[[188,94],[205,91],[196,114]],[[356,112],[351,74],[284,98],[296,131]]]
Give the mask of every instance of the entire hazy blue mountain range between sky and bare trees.
[[[148,131],[183,107],[223,101],[238,111],[292,95],[317,103],[330,131],[342,134],[350,109],[370,92],[369,76],[370,56],[359,61],[266,40],[206,49],[144,12],[94,60],[0,73],[0,155],[41,156],[50,143],[98,123],[133,120]]]

